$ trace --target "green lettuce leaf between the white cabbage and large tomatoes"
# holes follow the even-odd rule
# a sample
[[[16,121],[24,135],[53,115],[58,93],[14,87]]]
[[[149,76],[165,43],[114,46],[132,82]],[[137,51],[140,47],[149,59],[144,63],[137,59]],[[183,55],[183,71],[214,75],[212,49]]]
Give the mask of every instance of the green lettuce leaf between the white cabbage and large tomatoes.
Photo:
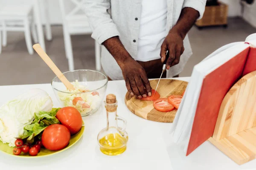
[[[56,113],[61,108],[53,108],[50,112],[38,112],[35,113],[35,119],[33,120],[32,124],[26,125],[24,127],[23,135],[20,136],[21,139],[26,139],[27,143],[33,143],[35,136],[41,138],[41,133],[44,129],[53,124],[59,124],[59,120],[55,117]]]

